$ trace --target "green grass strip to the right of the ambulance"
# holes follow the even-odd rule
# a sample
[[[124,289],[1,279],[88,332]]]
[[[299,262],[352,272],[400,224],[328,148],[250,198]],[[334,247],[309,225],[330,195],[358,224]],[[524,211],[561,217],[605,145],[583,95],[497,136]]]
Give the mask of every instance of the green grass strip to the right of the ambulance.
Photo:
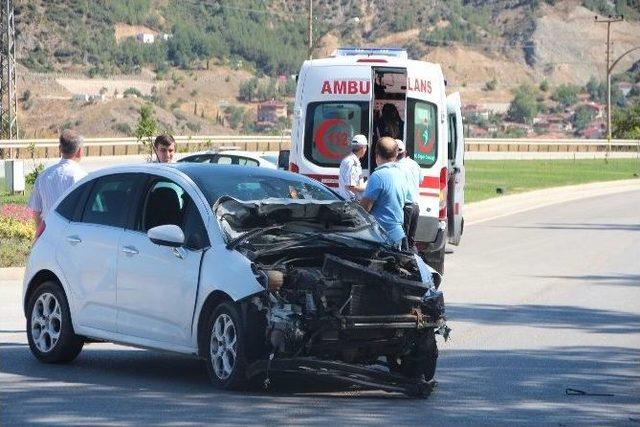
[[[640,174],[637,159],[604,160],[468,160],[465,202],[563,185],[632,179]]]

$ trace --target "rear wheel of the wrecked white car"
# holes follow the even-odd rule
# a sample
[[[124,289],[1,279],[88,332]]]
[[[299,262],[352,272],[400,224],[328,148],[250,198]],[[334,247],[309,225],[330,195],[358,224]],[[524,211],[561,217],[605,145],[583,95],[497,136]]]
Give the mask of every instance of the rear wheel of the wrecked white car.
[[[67,363],[84,345],[71,323],[71,311],[62,287],[47,281],[31,294],[27,305],[27,340],[31,353],[44,363]]]

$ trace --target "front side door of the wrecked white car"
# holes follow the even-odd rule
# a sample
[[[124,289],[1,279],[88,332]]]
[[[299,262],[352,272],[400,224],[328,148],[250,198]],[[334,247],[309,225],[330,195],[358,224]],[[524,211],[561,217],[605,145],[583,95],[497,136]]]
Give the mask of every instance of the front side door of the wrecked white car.
[[[179,248],[153,243],[146,232],[178,225]],[[172,345],[188,345],[200,262],[208,237],[192,197],[174,180],[150,176],[118,250],[118,332]]]

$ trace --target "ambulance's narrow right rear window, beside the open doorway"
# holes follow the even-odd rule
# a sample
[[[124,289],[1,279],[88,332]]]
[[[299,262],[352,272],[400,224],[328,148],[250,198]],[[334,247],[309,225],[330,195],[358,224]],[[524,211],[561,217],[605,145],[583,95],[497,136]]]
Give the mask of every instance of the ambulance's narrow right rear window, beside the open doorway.
[[[438,157],[436,106],[407,99],[407,151],[420,166],[431,167]]]

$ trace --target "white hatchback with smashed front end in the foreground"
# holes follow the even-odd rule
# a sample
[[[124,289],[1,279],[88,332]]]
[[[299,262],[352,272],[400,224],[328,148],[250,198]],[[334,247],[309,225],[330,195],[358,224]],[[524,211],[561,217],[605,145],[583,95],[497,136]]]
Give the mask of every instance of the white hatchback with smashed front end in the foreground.
[[[446,336],[440,277],[310,178],[182,163],[102,169],[44,219],[23,302],[48,363],[85,342],[193,354],[238,388],[278,372],[419,394]],[[387,360],[387,372],[366,367]]]

